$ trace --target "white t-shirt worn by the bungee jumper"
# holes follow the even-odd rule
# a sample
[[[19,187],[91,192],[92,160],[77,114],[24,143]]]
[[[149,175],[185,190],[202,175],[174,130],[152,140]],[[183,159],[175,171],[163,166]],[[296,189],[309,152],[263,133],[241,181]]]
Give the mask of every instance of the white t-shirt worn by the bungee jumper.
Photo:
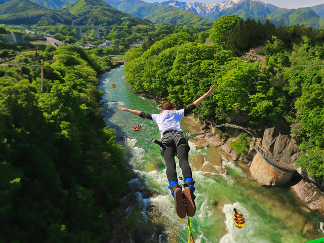
[[[184,116],[184,110],[164,110],[159,114],[152,114],[152,120],[157,124],[161,137],[169,129],[182,131],[180,121]]]

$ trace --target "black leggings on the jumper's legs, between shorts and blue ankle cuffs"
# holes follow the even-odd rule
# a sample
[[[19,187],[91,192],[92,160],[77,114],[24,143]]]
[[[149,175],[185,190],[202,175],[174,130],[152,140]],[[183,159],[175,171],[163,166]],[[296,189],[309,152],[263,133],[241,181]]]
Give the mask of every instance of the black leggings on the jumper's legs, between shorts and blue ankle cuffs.
[[[184,142],[179,142],[178,147],[171,146],[166,147],[166,149],[162,150],[161,153],[166,161],[167,166],[167,177],[169,183],[171,181],[178,181],[177,172],[176,172],[176,161],[174,160],[175,149],[177,151],[179,157],[179,166],[182,170],[182,176],[185,180],[186,178],[192,178],[191,168],[189,166],[189,145]]]

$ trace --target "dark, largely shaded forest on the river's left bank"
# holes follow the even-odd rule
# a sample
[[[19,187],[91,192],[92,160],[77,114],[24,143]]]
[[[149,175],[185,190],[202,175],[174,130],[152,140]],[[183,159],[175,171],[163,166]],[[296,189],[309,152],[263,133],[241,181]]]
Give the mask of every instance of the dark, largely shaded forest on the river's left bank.
[[[74,45],[0,46],[33,65],[0,67],[0,242],[103,242],[130,180],[100,114],[109,65]]]

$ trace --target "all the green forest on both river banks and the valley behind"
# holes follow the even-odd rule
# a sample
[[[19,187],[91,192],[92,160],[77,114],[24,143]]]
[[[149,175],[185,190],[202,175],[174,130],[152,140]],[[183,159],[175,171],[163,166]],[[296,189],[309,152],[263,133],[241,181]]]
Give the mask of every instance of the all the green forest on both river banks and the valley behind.
[[[75,41],[67,26],[38,30]],[[0,28],[0,38],[5,34]],[[105,127],[96,87],[98,74],[112,67],[109,55],[133,37],[144,41],[126,53],[125,77],[134,90],[183,106],[216,84],[196,114],[221,121],[245,113],[259,131],[283,115],[302,151],[298,166],[324,180],[323,30],[225,15],[211,29],[126,21],[104,37],[114,49],[0,41],[0,61],[32,65],[0,66],[0,242],[111,236],[108,214],[128,194],[130,174],[123,147]],[[205,45],[207,38],[214,44]],[[83,41],[98,42],[91,33]],[[266,63],[241,60],[250,48]]]

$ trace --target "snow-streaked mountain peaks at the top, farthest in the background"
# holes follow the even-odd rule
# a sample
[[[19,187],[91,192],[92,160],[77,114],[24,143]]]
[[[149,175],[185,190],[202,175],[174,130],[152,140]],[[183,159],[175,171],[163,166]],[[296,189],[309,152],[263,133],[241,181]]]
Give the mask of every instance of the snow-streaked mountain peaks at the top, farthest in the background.
[[[173,7],[182,9],[182,10],[189,10],[192,11],[200,16],[207,16],[211,14],[218,13],[222,10],[228,9],[234,5],[237,5],[240,2],[258,2],[260,4],[266,5],[266,3],[263,3],[259,0],[228,0],[219,4],[203,4],[203,3],[190,3],[187,4],[185,2],[178,2],[176,0],[166,1],[162,3],[154,3],[156,5],[171,5]]]

